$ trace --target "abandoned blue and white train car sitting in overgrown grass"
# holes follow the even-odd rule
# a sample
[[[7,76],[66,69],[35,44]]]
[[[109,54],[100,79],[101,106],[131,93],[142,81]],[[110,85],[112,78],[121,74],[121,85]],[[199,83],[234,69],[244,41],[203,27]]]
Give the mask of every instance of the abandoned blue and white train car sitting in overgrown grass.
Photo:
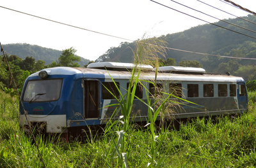
[[[174,107],[172,113],[166,114],[174,118],[248,111],[245,81],[229,73],[206,73],[199,67],[156,69],[150,65],[95,62],[88,67],[52,67],[31,74],[20,95],[20,128],[29,132],[30,125],[40,125],[46,134],[68,137],[86,127],[99,128],[110,119],[117,120],[122,111],[113,115],[116,99],[120,99],[120,93],[127,94],[134,67],[140,67],[139,80],[143,83],[143,87],[137,85],[132,104],[134,122],[147,122],[148,107],[144,102],[152,102],[163,93],[173,94],[169,99],[179,101],[179,108]]]

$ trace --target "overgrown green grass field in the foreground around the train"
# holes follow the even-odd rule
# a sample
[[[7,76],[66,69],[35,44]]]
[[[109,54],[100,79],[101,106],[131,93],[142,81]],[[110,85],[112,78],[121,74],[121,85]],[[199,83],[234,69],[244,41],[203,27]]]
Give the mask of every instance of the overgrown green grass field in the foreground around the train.
[[[31,136],[19,129],[19,100],[3,92],[0,97],[0,167],[43,167]],[[116,123],[88,143],[37,136],[36,144],[45,167],[256,167],[256,92],[249,97],[246,114],[216,122],[196,118],[179,131],[160,129],[153,138],[150,129],[133,124],[124,136]]]

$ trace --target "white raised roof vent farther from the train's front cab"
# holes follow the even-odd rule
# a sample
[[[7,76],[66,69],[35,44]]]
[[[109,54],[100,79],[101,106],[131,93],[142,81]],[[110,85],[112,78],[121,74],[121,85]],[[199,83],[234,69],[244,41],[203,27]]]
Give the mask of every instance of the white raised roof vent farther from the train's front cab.
[[[204,74],[205,73],[205,69],[201,67],[181,67],[181,66],[158,67],[158,71],[165,72],[165,73],[168,72],[168,73],[188,73],[188,74]]]

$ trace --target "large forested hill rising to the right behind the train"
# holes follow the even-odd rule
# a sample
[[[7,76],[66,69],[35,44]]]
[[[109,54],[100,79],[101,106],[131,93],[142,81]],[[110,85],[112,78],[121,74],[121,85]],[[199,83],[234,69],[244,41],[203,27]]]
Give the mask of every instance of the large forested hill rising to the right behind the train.
[[[254,15],[248,15],[243,18],[256,23],[256,17]],[[246,20],[242,20],[241,18],[230,18],[225,21],[245,27],[246,29],[255,30],[255,24],[247,22]],[[247,31],[222,21],[214,24],[256,38],[255,32]],[[169,48],[177,48],[180,50],[207,53],[211,55],[224,55],[228,57],[256,58],[256,39],[228,31],[227,29],[212,24],[205,24],[192,27],[183,32],[167,34],[162,37],[168,42]],[[96,61],[119,62],[122,60],[122,62],[131,62],[131,48],[134,49],[134,42],[121,43],[118,47],[110,48],[108,52],[101,55]],[[243,76],[245,80],[252,78],[252,76],[248,76],[248,73],[254,72],[256,60],[228,59],[211,55],[199,55],[196,53],[180,52],[170,49],[167,51],[166,59],[175,59],[177,66],[182,60],[196,60],[202,64],[207,72],[226,73],[229,71],[231,74]],[[247,71],[247,74],[244,73],[244,71]]]

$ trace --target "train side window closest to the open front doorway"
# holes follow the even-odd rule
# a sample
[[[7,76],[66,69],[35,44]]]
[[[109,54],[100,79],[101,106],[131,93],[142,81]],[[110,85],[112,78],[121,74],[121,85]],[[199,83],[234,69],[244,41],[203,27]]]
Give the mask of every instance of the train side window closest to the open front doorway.
[[[116,88],[116,85],[118,88]],[[102,99],[115,99],[115,97],[119,99],[119,82],[116,82],[116,85],[114,82],[102,82]],[[115,97],[111,93],[115,95]]]

